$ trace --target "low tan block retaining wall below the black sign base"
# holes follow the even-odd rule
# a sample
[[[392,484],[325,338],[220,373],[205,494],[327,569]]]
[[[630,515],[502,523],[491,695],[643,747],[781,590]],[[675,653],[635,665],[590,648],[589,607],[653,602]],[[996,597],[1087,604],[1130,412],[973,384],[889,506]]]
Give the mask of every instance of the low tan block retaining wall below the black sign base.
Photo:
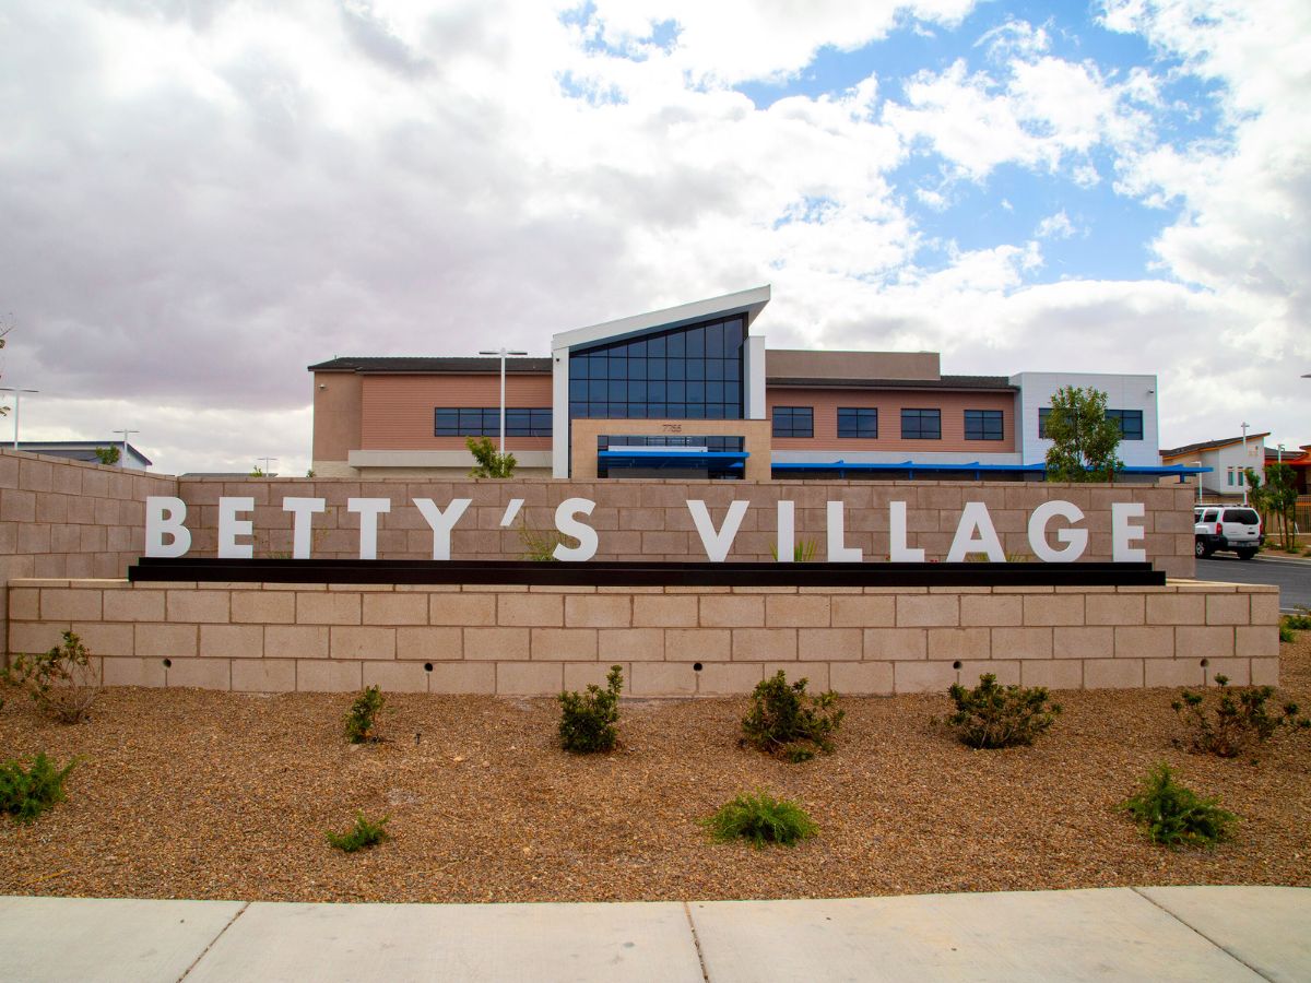
[[[8,646],[75,630],[109,685],[552,695],[624,667],[637,696],[847,693],[995,672],[1051,688],[1278,678],[1277,588],[9,583]],[[164,619],[168,620],[164,620]]]

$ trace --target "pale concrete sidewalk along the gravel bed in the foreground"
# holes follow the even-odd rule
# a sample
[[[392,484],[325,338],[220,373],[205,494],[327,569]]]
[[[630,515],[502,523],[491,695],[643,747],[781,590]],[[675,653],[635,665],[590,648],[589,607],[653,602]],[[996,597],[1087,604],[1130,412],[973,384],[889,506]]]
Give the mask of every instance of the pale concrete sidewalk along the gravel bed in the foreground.
[[[627,904],[0,898],[4,980],[1307,980],[1311,889]]]

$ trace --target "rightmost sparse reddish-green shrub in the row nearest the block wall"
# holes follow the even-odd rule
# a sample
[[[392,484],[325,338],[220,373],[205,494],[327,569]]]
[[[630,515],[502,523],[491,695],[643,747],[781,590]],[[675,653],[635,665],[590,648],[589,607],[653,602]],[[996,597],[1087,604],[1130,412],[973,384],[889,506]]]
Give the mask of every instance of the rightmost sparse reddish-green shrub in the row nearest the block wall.
[[[1171,708],[1188,729],[1188,744],[1194,751],[1238,758],[1265,743],[1285,726],[1311,727],[1311,720],[1298,716],[1298,705],[1286,703],[1280,712],[1266,709],[1274,696],[1272,685],[1243,685],[1234,689],[1228,676],[1215,676],[1211,695],[1185,689]]]

